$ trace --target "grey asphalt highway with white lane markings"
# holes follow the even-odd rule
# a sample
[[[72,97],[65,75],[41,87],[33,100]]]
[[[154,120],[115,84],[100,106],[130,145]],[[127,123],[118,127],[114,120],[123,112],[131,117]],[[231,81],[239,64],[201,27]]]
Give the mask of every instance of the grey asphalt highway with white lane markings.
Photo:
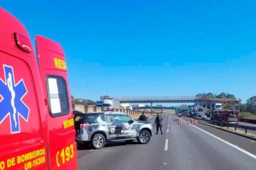
[[[163,135],[153,135],[145,145],[134,140],[107,143],[101,150],[79,148],[79,169],[256,169],[254,140],[207,125],[187,125],[183,120],[178,125],[177,120],[164,115]]]

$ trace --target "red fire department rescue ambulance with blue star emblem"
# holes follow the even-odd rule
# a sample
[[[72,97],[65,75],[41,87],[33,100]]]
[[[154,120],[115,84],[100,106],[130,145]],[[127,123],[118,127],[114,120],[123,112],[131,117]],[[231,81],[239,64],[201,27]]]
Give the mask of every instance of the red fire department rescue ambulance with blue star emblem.
[[[0,170],[77,169],[67,66],[60,44],[0,8]]]

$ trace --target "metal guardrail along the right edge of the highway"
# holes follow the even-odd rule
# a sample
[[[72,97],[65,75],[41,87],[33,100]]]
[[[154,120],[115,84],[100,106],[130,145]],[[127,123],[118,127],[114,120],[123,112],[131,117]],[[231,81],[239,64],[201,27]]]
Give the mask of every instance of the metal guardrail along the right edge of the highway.
[[[234,127],[235,131],[236,131],[236,128],[244,128],[245,133],[247,133],[247,130],[256,131],[256,127],[252,127],[252,126],[238,125],[238,124],[234,124],[234,123],[227,123],[224,121],[214,121],[214,120],[206,120],[206,119],[199,119],[199,118],[193,118],[193,119],[196,119],[199,121],[204,121],[204,122],[210,122],[210,124],[221,125],[221,127],[223,125],[227,126],[227,128]]]

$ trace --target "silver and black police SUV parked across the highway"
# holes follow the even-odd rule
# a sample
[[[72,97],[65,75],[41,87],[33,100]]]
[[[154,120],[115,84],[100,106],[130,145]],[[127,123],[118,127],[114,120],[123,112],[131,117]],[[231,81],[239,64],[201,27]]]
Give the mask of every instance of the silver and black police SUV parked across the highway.
[[[74,119],[75,140],[78,143],[91,143],[95,149],[102,148],[106,141],[124,140],[130,143],[137,139],[139,143],[146,144],[152,136],[150,122],[133,121],[119,112],[89,113]]]

